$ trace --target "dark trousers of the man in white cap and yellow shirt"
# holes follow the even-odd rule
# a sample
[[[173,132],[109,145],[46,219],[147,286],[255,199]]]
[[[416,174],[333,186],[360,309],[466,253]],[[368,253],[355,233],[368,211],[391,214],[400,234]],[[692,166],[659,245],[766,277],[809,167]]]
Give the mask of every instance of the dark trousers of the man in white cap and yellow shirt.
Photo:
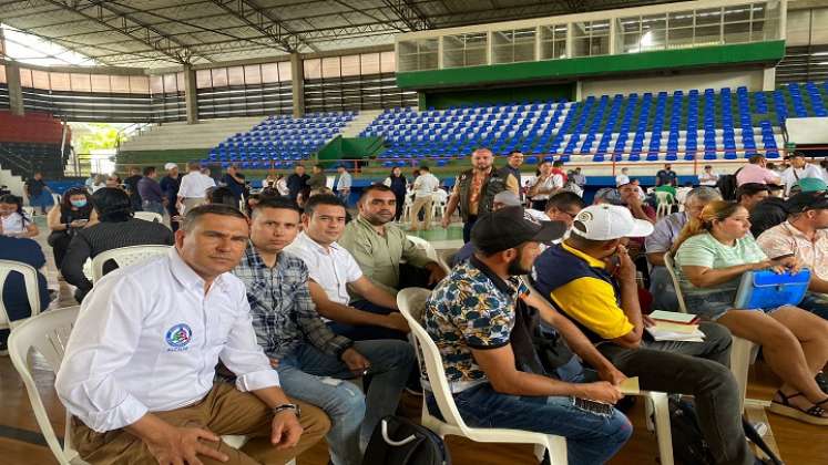
[[[704,342],[645,342],[638,349],[613,343],[599,350],[641,389],[695,396],[698,422],[718,464],[753,464],[742,426],[739,391],[728,365],[730,332],[703,322]]]

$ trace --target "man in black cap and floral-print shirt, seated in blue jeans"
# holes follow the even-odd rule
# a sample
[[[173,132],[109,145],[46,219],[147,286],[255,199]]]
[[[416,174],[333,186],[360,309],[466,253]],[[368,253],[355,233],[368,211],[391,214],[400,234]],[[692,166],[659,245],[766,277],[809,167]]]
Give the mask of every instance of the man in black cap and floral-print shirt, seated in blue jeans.
[[[560,238],[565,229],[563,223],[533,219],[522,207],[481,216],[471,230],[477,251],[435,289],[426,303],[425,327],[440,350],[458,410],[470,426],[564,436],[570,463],[599,464],[624,445],[632,426],[610,405],[582,400],[615,403],[624,376],[517,278],[532,267],[540,244]],[[520,299],[539,309],[572,351],[606,381],[568,383],[542,374],[542,369],[515,368],[515,362],[524,366],[511,339]],[[437,413],[433,396],[427,402]],[[596,406],[604,411],[589,410]]]

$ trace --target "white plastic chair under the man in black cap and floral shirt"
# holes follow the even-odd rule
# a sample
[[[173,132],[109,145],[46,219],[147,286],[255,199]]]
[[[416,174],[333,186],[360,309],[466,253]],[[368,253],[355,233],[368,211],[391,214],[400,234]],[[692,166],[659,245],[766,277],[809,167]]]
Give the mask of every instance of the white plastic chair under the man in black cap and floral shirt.
[[[549,451],[551,465],[566,465],[566,438],[563,436],[552,436],[543,433],[532,433],[520,430],[505,428],[482,428],[469,427],[460,416],[457,410],[454,399],[449,390],[449,382],[446,379],[442,360],[437,344],[428,335],[420,324],[422,310],[431,291],[421,288],[402,289],[397,294],[397,306],[400,313],[408,321],[411,328],[412,341],[420,366],[425,362],[428,374],[428,383],[431,392],[435,394],[440,413],[446,421],[440,421],[428,412],[428,406],[422,404],[423,426],[433,431],[440,437],[447,435],[463,436],[471,441],[480,443],[518,443],[534,444],[535,455],[539,461],[543,458],[543,452]]]

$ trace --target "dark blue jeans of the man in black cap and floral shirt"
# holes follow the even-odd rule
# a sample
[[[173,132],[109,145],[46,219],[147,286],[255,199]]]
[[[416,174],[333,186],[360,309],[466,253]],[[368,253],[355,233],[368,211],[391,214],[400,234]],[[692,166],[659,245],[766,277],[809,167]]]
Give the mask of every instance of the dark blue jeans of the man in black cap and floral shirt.
[[[429,411],[439,410],[433,395]],[[610,415],[586,412],[572,397],[534,397],[501,394],[483,383],[454,394],[454,403],[469,426],[502,427],[566,437],[566,454],[573,465],[603,464],[627,442],[633,425],[613,409]]]

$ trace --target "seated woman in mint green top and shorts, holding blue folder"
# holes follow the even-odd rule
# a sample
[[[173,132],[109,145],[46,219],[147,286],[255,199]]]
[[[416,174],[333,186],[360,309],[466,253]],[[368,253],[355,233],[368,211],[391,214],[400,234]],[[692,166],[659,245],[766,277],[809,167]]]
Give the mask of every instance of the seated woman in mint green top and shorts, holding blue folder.
[[[761,345],[765,360],[785,380],[771,412],[828,425],[828,395],[814,379],[828,362],[828,321],[793,306],[733,308],[743,273],[799,269],[795,257],[768,259],[749,231],[747,210],[723,200],[707,204],[701,219],[684,227],[673,254],[687,309]]]

